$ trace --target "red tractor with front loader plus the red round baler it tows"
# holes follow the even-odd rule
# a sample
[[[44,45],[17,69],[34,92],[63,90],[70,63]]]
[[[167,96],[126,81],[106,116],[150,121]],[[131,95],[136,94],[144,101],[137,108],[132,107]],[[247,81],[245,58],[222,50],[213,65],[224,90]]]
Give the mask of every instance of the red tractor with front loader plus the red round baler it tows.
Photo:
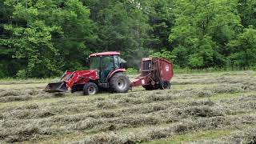
[[[126,76],[125,62],[118,52],[90,54],[90,70],[66,71],[60,82],[49,83],[44,91],[71,93],[82,91],[84,95],[97,94],[98,90],[126,93],[134,86],[146,90],[169,89],[173,76],[172,63],[162,58],[143,58],[141,75],[130,82]]]

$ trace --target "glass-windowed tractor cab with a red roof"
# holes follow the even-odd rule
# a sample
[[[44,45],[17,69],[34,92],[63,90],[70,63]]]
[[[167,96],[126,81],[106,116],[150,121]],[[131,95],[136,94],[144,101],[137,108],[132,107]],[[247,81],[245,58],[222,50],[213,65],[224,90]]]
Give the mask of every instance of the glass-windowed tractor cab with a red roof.
[[[126,61],[119,55],[118,52],[90,54],[90,70],[97,70],[100,83],[108,82],[108,78],[114,70],[122,69],[122,63]]]

